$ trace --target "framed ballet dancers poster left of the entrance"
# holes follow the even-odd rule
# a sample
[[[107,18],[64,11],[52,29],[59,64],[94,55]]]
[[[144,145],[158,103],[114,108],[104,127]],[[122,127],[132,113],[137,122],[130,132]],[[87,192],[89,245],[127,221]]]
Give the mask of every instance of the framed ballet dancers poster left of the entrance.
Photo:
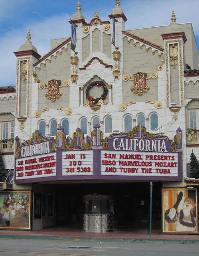
[[[0,192],[0,229],[30,229],[31,192]]]

